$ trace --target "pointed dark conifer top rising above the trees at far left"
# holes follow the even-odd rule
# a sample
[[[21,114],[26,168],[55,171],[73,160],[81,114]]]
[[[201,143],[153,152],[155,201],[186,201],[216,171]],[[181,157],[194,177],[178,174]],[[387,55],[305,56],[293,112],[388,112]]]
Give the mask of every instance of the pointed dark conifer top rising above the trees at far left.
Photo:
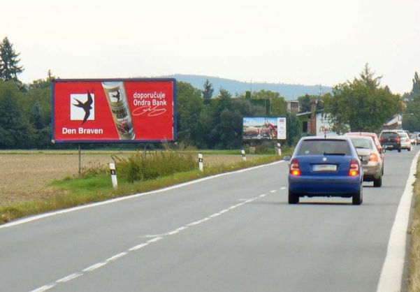
[[[3,38],[3,42],[0,43],[0,78],[4,81],[18,81],[17,74],[24,71],[22,66],[18,66],[19,55],[20,53],[15,52],[8,38]]]

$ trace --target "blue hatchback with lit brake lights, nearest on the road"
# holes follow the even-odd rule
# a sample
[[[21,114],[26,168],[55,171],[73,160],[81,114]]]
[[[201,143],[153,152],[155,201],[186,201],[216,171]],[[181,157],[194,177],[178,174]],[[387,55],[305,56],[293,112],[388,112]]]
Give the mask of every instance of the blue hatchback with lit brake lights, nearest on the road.
[[[363,202],[363,168],[347,136],[301,138],[289,163],[289,204],[300,197],[352,198]]]

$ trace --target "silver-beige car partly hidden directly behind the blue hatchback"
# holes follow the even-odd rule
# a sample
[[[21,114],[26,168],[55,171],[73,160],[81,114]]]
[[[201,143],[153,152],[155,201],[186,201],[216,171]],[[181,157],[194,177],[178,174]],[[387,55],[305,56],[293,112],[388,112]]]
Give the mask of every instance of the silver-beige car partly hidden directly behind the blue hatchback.
[[[349,138],[362,161],[363,182],[373,182],[373,187],[382,187],[382,159],[373,140],[366,136]]]

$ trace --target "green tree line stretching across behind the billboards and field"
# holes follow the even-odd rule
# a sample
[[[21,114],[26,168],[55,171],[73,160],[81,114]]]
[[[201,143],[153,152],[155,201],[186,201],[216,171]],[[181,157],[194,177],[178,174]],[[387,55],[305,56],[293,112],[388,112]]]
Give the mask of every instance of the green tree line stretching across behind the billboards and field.
[[[51,81],[45,79],[24,85],[17,76],[24,71],[20,54],[4,38],[0,43],[0,149],[66,148],[73,145],[51,143]],[[328,113],[333,129],[339,132],[380,131],[396,113],[405,113],[410,129],[420,122],[420,85],[417,73],[412,92],[400,96],[382,87],[382,76],[366,64],[358,78],[333,87],[322,96],[300,96],[300,111]],[[202,89],[186,82],[177,87],[178,143],[201,149],[238,149],[243,146],[242,117],[287,117],[287,141],[294,145],[302,133],[302,121],[287,113],[287,102],[278,92],[261,90],[232,96],[226,89],[215,94],[207,80]],[[407,105],[407,106],[405,106]],[[408,122],[406,122],[406,125]],[[408,129],[408,128],[407,128]],[[254,141],[251,143],[261,143]],[[138,147],[138,145],[85,145],[85,147]]]

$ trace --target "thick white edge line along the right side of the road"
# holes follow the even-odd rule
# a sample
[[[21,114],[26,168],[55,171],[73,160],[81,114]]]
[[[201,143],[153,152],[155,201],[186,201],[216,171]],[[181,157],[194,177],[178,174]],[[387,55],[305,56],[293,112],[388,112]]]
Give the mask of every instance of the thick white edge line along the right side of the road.
[[[411,163],[410,174],[408,175],[404,193],[400,199],[400,204],[398,205],[396,218],[393,221],[384,265],[382,266],[381,276],[379,277],[379,282],[377,284],[377,292],[393,292],[400,291],[401,289],[405,262],[407,227],[413,196],[412,184],[416,181],[414,175],[417,172],[419,154],[420,152],[417,152]]]

